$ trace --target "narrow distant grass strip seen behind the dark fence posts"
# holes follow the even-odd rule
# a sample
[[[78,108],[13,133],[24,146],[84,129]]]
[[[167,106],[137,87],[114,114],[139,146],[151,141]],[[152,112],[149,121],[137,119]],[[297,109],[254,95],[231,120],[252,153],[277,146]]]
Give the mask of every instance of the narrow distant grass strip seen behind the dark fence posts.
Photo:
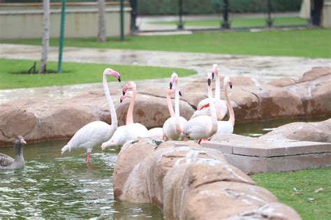
[[[266,17],[237,17],[230,20],[231,27],[265,27]],[[307,24],[307,20],[300,17],[272,17],[274,26],[281,25],[303,25]],[[177,22],[152,22],[152,24],[168,24],[177,25]],[[198,27],[220,27],[221,20],[188,20],[184,21],[184,26],[198,26]]]

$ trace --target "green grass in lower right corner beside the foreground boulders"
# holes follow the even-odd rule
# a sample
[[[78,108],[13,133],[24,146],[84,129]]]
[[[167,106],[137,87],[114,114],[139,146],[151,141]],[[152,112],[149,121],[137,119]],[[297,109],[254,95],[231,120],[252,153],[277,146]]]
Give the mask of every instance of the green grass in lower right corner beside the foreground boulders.
[[[274,193],[281,203],[293,207],[302,219],[331,219],[331,168],[250,177]],[[323,191],[315,192],[319,188]]]

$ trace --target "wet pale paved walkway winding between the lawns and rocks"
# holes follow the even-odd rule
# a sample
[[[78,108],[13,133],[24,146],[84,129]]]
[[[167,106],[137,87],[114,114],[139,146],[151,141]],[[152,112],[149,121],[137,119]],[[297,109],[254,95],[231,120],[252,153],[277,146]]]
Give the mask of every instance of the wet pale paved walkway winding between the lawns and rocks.
[[[57,61],[57,56],[57,47],[50,47],[49,60]],[[0,44],[0,58],[39,61],[41,59],[41,46]],[[302,57],[260,57],[78,47],[65,47],[63,61],[103,63],[110,65],[131,64],[138,66],[179,67],[196,70],[198,74],[184,78],[181,80],[181,85],[193,79],[204,77],[205,73],[211,70],[212,64],[219,64],[221,74],[229,76],[242,75],[251,78],[260,78],[266,81],[274,78],[300,78],[302,73],[309,71],[315,66],[330,66],[331,64],[331,59],[310,59]],[[142,80],[137,83],[138,87],[147,85],[167,87],[168,78]],[[117,83],[112,85],[112,87],[120,87],[121,85]],[[68,98],[82,91],[100,88],[101,83],[33,89],[5,89],[0,90],[0,103],[22,96]]]

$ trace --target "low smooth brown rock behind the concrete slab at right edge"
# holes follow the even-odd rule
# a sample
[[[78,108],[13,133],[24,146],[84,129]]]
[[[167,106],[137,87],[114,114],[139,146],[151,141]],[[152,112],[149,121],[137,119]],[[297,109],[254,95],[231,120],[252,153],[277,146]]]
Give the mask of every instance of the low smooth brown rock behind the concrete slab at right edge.
[[[292,140],[331,142],[331,119],[323,122],[294,122],[279,126],[260,138],[288,138]]]

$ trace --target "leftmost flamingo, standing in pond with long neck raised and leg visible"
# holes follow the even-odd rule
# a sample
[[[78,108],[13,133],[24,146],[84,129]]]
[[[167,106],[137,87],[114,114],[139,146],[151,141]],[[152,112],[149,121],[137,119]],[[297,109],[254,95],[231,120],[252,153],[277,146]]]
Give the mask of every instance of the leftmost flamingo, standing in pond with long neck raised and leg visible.
[[[75,133],[75,135],[73,135],[73,138],[71,138],[71,140],[69,140],[69,142],[64,147],[62,147],[61,154],[64,154],[64,152],[67,150],[71,152],[71,149],[73,148],[87,149],[86,161],[87,164],[89,164],[89,156],[93,147],[96,145],[101,145],[102,142],[109,140],[117,129],[117,115],[114,104],[112,103],[112,98],[110,97],[109,87],[107,84],[107,78],[110,75],[117,78],[119,82],[121,82],[121,76],[119,73],[117,73],[117,71],[114,71],[111,68],[105,68],[105,71],[103,71],[103,91],[105,92],[105,97],[108,101],[110,116],[112,117],[112,124],[96,121],[84,125]]]

